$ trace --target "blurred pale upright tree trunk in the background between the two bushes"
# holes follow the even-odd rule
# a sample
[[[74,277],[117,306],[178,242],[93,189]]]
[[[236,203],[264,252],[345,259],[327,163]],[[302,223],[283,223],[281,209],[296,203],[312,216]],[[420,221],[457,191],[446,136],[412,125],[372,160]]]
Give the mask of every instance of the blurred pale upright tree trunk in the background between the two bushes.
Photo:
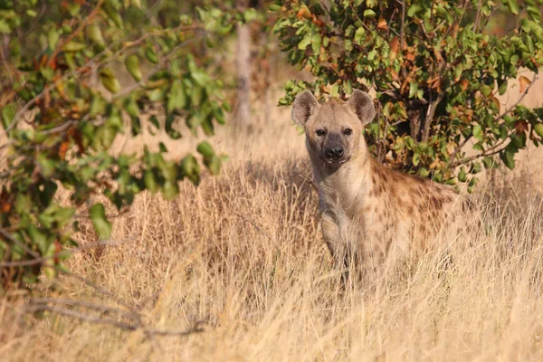
[[[235,122],[251,124],[251,33],[246,24],[237,25],[235,71],[237,73],[237,110]]]

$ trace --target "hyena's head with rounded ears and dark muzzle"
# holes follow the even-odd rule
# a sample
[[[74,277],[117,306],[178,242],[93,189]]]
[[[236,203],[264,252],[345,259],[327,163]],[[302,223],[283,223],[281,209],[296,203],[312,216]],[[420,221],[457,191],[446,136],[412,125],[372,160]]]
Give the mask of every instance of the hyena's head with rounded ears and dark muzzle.
[[[322,105],[306,90],[292,104],[292,119],[305,129],[310,157],[329,167],[340,167],[365,151],[362,130],[375,116],[373,102],[362,90],[353,91],[344,104],[329,100]]]

